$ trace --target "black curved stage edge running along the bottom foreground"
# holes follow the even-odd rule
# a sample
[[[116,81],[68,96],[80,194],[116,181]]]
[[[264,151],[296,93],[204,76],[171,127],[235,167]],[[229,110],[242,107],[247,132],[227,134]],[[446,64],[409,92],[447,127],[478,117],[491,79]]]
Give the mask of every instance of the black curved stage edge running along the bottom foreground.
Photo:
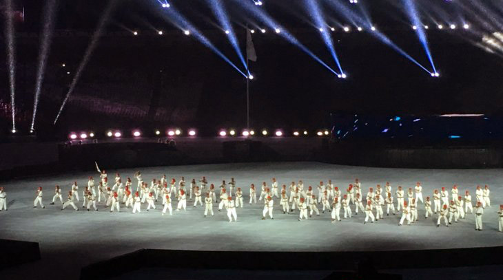
[[[142,249],[85,266],[81,280],[109,279],[142,268],[226,270],[363,270],[503,264],[503,246],[369,252],[229,252]],[[302,265],[299,265],[299,264]],[[361,266],[367,266],[362,268]],[[120,272],[120,273],[119,273]],[[389,278],[388,278],[389,279]]]

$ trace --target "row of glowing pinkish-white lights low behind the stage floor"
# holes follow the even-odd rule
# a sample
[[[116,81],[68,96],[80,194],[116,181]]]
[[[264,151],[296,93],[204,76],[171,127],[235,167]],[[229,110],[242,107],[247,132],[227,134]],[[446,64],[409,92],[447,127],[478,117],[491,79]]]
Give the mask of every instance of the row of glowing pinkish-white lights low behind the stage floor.
[[[156,136],[161,136],[161,131],[158,129],[156,131],[154,131],[154,133]],[[263,129],[262,131],[260,131],[260,133],[262,134],[262,136],[269,136],[271,131],[268,131],[267,129]],[[329,136],[329,134],[330,134],[330,132],[327,129],[321,129],[321,130],[316,131],[317,136]],[[123,133],[120,130],[113,130],[112,129],[112,130],[107,131],[105,133],[105,135],[108,138],[123,138]],[[134,129],[133,131],[131,131],[131,136],[133,136],[134,138],[140,138],[142,135],[143,134],[138,129]],[[196,135],[197,135],[197,132],[195,129],[189,129],[187,131],[186,136],[195,137]],[[249,129],[249,130],[243,129],[243,131],[241,131],[240,135],[243,137],[251,137],[251,136],[255,136],[256,132],[253,129]],[[291,135],[293,135],[295,137],[308,136],[309,132],[307,130],[304,130],[304,131],[296,130],[296,131],[293,131],[291,133]],[[81,132],[81,133],[72,132],[72,133],[70,133],[68,138],[70,138],[70,140],[77,140],[77,139],[86,140],[88,138],[94,138],[95,136],[96,136],[96,134],[94,134],[94,132]],[[181,129],[168,129],[166,131],[166,136],[175,137],[175,136],[184,136],[184,135],[183,135],[183,132]],[[228,129],[228,130],[227,129],[220,129],[220,131],[218,131],[218,136],[220,136],[220,137],[238,136],[238,132],[236,131],[236,129]],[[286,135],[283,132],[283,130],[276,129],[273,133],[273,136],[282,137],[282,136],[286,136]]]

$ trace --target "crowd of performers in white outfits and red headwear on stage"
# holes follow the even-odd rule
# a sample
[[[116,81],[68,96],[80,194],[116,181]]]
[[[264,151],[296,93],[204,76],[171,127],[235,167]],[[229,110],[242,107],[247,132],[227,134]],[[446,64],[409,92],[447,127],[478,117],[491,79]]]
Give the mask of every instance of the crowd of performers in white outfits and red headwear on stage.
[[[236,187],[234,178],[231,178],[230,182],[226,183],[224,180],[220,184],[220,191],[217,197],[214,184],[209,184],[208,186],[206,177],[202,177],[198,182],[192,179],[189,182],[188,188],[186,187],[184,177],[181,177],[181,180],[178,180],[178,182],[174,178],[168,182],[166,175],[163,175],[161,180],[152,179],[152,182],[148,184],[147,182],[143,182],[141,172],[139,171],[134,174],[134,179],[136,179],[137,183],[136,186],[133,186],[130,177],[127,177],[124,184],[119,173],[116,173],[112,186],[108,182],[109,180],[105,171],[100,171],[99,177],[98,184],[94,182],[92,177],[89,177],[87,186],[81,189],[82,200],[79,197],[79,185],[77,182],[72,184],[65,201],[63,201],[61,188],[56,186],[51,204],[59,200],[61,202],[61,210],[72,206],[74,210],[79,211],[76,203],[79,204],[82,201],[82,208],[88,211],[91,208],[94,211],[98,211],[96,202],[103,202],[106,208],[110,207],[110,212],[114,210],[119,212],[121,205],[123,205],[125,208],[131,207],[132,213],[140,213],[142,204],[147,204],[146,211],[150,211],[150,209],[156,209],[155,202],[161,200],[162,215],[172,215],[173,200],[177,202],[176,211],[185,211],[187,200],[190,200],[194,202],[194,207],[198,206],[198,204],[204,206],[204,217],[207,215],[214,216],[214,204],[218,204],[218,211],[222,211],[224,208],[227,211],[229,222],[237,221],[236,208],[243,208],[244,206],[243,190],[240,187]],[[260,191],[260,195],[257,195],[258,191]],[[393,195],[396,196],[396,204]],[[365,213],[364,224],[369,221],[373,223],[379,219],[383,219],[385,207],[387,216],[390,213],[396,215],[397,212],[401,212],[402,215],[398,225],[402,226],[404,222],[407,222],[407,225],[411,225],[418,221],[418,203],[420,202],[424,206],[425,219],[433,217],[433,214],[438,215],[437,226],[440,226],[442,221],[445,226],[449,226],[452,222],[457,223],[458,220],[464,219],[470,212],[475,215],[475,230],[482,230],[484,209],[491,206],[490,190],[487,185],[483,189],[480,186],[476,187],[475,200],[473,200],[475,206],[473,206],[469,191],[465,191],[464,196],[461,196],[458,186],[453,186],[450,191],[447,191],[444,187],[442,187],[441,191],[435,189],[433,195],[431,195],[432,198],[427,196],[424,199],[420,182],[417,182],[413,188],[409,188],[407,191],[404,191],[402,186],[398,186],[394,193],[389,182],[384,185],[384,188],[381,188],[378,184],[376,189],[369,188],[369,191],[365,195],[365,200],[363,200],[364,195],[362,194],[361,183],[358,179],[353,184],[349,184],[347,189],[345,189],[345,193],[342,193],[338,186],[332,184],[331,180],[328,180],[327,184],[320,182],[315,189],[312,186],[305,188],[302,180],[298,183],[291,182],[288,187],[283,185],[280,188],[276,178],[273,178],[270,186],[266,182],[263,182],[260,190],[256,189],[254,184],[249,186],[249,204],[256,204],[257,196],[259,202],[264,201],[262,219],[266,219],[267,217],[274,219],[274,199],[276,198],[280,204],[280,210],[284,214],[298,211],[299,221],[312,217],[314,213],[319,216],[320,210],[318,206],[320,206],[322,213],[325,213],[325,211],[331,213],[332,223],[340,222],[341,210],[344,211],[343,217],[345,219],[353,217],[353,211],[351,210],[351,205],[353,205],[355,215],[358,215],[359,211]],[[204,200],[202,197],[204,197]],[[36,192],[33,204],[34,208],[37,205],[45,208],[42,199],[43,191],[40,186]],[[7,210],[6,192],[3,190],[3,187],[0,187],[1,210]],[[499,230],[501,232],[503,230],[503,204],[500,205],[500,211],[497,214],[499,215]]]

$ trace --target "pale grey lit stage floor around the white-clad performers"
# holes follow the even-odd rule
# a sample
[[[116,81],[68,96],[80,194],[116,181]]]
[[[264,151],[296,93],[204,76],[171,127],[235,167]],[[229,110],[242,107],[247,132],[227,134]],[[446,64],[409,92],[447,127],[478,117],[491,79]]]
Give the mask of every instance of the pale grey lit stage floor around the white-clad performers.
[[[110,177],[116,170],[103,166]],[[121,169],[123,178],[136,170]],[[74,173],[52,177],[3,182],[8,193],[9,211],[0,213],[0,238],[37,241],[42,260],[17,268],[10,268],[2,275],[8,279],[26,278],[39,270],[41,278],[65,277],[76,279],[82,266],[108,259],[140,248],[182,250],[280,250],[280,251],[325,251],[325,250],[411,250],[431,248],[464,248],[500,246],[503,234],[497,231],[497,211],[503,202],[503,178],[500,169],[483,170],[426,170],[426,169],[380,169],[358,166],[339,166],[316,162],[211,164],[193,166],[165,166],[141,169],[145,182],[167,174],[168,178],[182,175],[196,179],[205,175],[216,186],[221,180],[235,177],[237,185],[245,191],[248,199],[249,184],[256,186],[276,177],[281,184],[299,179],[305,186],[315,186],[320,180],[331,179],[339,187],[346,187],[358,177],[363,193],[369,187],[391,182],[404,188],[422,182],[423,195],[431,195],[433,189],[445,186],[451,189],[458,184],[460,193],[467,189],[475,197],[477,184],[491,187],[491,208],[485,209],[484,230],[475,232],[473,215],[467,215],[458,224],[449,228],[437,228],[433,219],[424,219],[424,208],[419,205],[420,221],[412,226],[397,226],[399,215],[385,217],[378,223],[363,224],[365,215],[330,223],[330,214],[298,222],[295,215],[284,215],[276,200],[274,220],[260,220],[263,204],[249,205],[238,209],[238,222],[229,223],[225,212],[216,211],[215,217],[203,217],[203,207],[187,208],[186,212],[174,212],[173,216],[161,216],[161,210],[133,215],[131,209],[121,208],[121,213],[106,211],[60,211],[61,206],[49,205],[54,185],[63,186],[68,192],[70,184],[77,180],[81,188],[87,184],[89,175],[98,173]],[[135,182],[136,183],[136,182]],[[34,191],[44,187],[45,209],[32,208]],[[173,203],[174,204],[174,203]],[[190,203],[189,203],[190,204]],[[81,206],[81,205],[80,205]],[[161,206],[161,202],[157,203]],[[145,206],[142,206],[144,209]],[[352,206],[353,208],[353,206]]]

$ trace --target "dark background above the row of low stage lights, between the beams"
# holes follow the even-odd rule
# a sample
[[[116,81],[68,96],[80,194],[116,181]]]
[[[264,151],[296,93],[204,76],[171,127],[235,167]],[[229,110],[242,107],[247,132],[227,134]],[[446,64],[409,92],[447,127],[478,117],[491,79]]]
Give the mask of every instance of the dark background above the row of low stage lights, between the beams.
[[[243,0],[245,1],[245,0]],[[251,0],[249,0],[251,1]],[[17,25],[17,104],[21,127],[32,112],[33,87],[39,52],[42,1],[19,1],[25,23]],[[106,1],[59,1],[57,30],[74,32],[54,36],[52,52],[37,123],[50,127],[65,87],[90,41]],[[183,3],[181,3],[183,2]],[[236,65],[239,61],[225,34],[218,30],[211,10],[203,1],[173,1],[189,20]],[[335,67],[317,30],[307,22],[300,1],[265,1],[264,9],[309,50]],[[368,2],[368,1],[367,1]],[[422,65],[427,56],[405,22],[406,17],[389,1],[372,1],[368,12],[380,30]],[[192,36],[184,36],[162,19],[156,0],[118,1],[74,95],[57,129],[90,127],[141,127],[150,125],[243,127],[245,124],[245,79]],[[234,23],[245,23],[249,14],[225,1]],[[385,6],[387,4],[387,6]],[[328,11],[328,10],[326,10]],[[452,11],[455,14],[455,11]],[[329,12],[333,19],[339,19]],[[251,21],[250,21],[251,22]],[[139,30],[134,37],[123,27]],[[152,30],[162,28],[165,36]],[[240,45],[245,32],[238,28]],[[88,32],[79,34],[77,32]],[[335,78],[313,58],[280,36],[254,34],[258,61],[251,63],[256,79],[251,83],[251,117],[256,127],[325,127],[329,112],[353,114],[500,113],[503,104],[503,58],[476,47],[480,40],[462,30],[427,33],[441,78],[431,78],[418,66],[362,32],[333,33],[342,67],[350,77]],[[5,58],[4,45],[1,53]],[[61,69],[61,63],[68,66]],[[160,71],[163,72],[160,72]],[[0,64],[0,99],[8,102],[6,64]],[[156,94],[156,92],[158,94]],[[1,116],[7,126],[8,114]]]

